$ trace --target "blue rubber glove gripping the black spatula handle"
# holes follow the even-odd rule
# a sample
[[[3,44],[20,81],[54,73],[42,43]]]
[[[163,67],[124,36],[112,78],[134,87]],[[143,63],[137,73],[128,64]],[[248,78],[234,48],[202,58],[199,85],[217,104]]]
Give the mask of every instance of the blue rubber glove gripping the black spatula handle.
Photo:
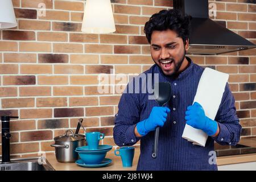
[[[156,127],[162,127],[166,122],[167,113],[170,113],[170,111],[168,107],[153,107],[150,116],[137,123],[138,133],[144,136],[148,132],[154,131]]]

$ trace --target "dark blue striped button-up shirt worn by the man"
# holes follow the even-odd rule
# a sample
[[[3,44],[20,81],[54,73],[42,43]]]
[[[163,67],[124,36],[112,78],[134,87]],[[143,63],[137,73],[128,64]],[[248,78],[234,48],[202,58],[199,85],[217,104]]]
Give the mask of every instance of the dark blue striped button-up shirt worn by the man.
[[[159,106],[155,100],[148,100],[151,93],[123,93],[118,104],[118,113],[115,115],[114,141],[118,146],[131,146],[141,140],[141,155],[137,170],[217,170],[212,164],[214,140],[222,145],[236,145],[240,140],[241,125],[236,115],[235,100],[230,92],[228,83],[222,96],[215,121],[220,126],[217,137],[208,137],[205,147],[193,145],[181,136],[185,127],[185,111],[192,105],[196,95],[197,85],[204,71],[203,67],[193,63],[189,57],[189,66],[177,78],[165,76],[158,65],[154,64],[146,74],[159,73],[159,82],[170,82],[171,100],[167,105],[171,112],[167,121],[160,127],[158,157],[152,159],[154,131],[144,137],[135,137],[134,129],[139,121],[150,115],[154,106]],[[153,80],[153,79],[152,79]],[[134,81],[129,85],[134,86]],[[147,87],[147,82],[141,88]],[[175,108],[175,109],[174,109]],[[209,160],[212,161],[209,163]]]

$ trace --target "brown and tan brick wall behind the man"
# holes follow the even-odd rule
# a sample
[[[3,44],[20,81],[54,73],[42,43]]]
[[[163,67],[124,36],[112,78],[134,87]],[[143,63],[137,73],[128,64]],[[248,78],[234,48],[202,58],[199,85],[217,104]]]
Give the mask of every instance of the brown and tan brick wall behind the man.
[[[39,17],[42,2],[46,16]],[[256,43],[255,1],[214,3],[217,17],[212,19]],[[82,0],[13,0],[13,4],[18,27],[0,31],[0,115],[19,116],[11,121],[11,154],[53,152],[49,146],[53,137],[65,129],[75,130],[78,118],[85,119],[88,131],[105,133],[102,144],[115,146],[114,114],[121,94],[98,93],[98,74],[114,69],[133,75],[150,68],[153,62],[143,26],[152,14],[172,8],[172,1],[112,0],[117,31],[102,35],[80,32]],[[242,136],[256,135],[256,49],[190,57],[199,65],[229,73]],[[219,155],[255,152],[238,147],[216,144]]]

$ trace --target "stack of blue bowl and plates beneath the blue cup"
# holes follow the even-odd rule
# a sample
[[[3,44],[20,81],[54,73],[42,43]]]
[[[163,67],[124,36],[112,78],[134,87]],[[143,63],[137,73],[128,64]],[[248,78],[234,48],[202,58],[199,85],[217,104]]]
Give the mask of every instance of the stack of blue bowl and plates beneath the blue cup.
[[[89,146],[77,147],[76,152],[80,159],[76,164],[82,167],[103,167],[112,163],[111,159],[105,158],[106,153],[112,150],[112,146],[107,144],[99,145],[97,149],[89,149]]]

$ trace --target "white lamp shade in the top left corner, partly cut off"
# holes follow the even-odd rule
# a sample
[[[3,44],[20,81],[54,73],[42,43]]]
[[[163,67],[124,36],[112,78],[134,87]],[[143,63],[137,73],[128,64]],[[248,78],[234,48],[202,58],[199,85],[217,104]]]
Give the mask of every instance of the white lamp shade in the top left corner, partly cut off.
[[[0,28],[13,28],[17,26],[13,2],[11,0],[0,1]]]

